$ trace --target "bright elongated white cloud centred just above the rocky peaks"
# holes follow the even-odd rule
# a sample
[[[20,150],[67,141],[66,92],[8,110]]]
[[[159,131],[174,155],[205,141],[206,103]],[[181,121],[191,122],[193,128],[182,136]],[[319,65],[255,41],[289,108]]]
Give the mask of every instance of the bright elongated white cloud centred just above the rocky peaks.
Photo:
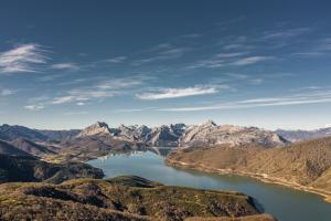
[[[137,97],[139,99],[166,99],[204,94],[215,94],[218,91],[215,87],[167,88],[153,93],[137,94]]]

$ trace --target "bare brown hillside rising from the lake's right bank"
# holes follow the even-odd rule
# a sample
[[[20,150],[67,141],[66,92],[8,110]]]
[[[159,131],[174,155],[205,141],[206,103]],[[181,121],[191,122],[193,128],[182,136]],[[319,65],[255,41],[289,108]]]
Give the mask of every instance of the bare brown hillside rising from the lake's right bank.
[[[167,162],[215,172],[258,177],[331,196],[331,138],[321,138],[284,148],[217,147],[172,152]]]

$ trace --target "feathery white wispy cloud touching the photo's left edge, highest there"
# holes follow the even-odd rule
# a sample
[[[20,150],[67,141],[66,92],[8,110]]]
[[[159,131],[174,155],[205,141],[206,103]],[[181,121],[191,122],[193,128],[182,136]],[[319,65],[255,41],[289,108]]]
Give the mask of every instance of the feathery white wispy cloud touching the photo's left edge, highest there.
[[[0,73],[39,72],[39,65],[47,60],[46,50],[40,44],[21,44],[0,53]]]

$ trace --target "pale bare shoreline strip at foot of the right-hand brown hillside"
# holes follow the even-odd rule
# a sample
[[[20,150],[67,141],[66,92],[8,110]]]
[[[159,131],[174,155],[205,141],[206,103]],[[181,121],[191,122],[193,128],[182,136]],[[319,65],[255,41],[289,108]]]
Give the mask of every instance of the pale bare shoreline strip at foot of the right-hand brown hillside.
[[[302,185],[299,185],[296,182],[289,182],[284,179],[280,179],[280,178],[269,177],[266,173],[244,172],[244,171],[236,171],[236,170],[232,170],[232,169],[217,169],[217,168],[212,168],[212,167],[207,167],[204,165],[188,164],[188,162],[170,160],[170,159],[166,159],[164,162],[166,162],[166,165],[169,165],[172,167],[178,167],[178,168],[194,169],[194,170],[199,170],[199,171],[203,171],[203,172],[212,172],[212,173],[218,173],[218,175],[237,175],[237,176],[254,178],[254,179],[257,179],[265,183],[281,185],[281,186],[292,188],[296,190],[301,190],[301,191],[318,194],[318,196],[322,197],[322,199],[325,202],[331,203],[331,192],[325,192],[323,190],[319,190],[319,189],[316,189],[312,187],[306,187],[306,186],[302,186]]]

